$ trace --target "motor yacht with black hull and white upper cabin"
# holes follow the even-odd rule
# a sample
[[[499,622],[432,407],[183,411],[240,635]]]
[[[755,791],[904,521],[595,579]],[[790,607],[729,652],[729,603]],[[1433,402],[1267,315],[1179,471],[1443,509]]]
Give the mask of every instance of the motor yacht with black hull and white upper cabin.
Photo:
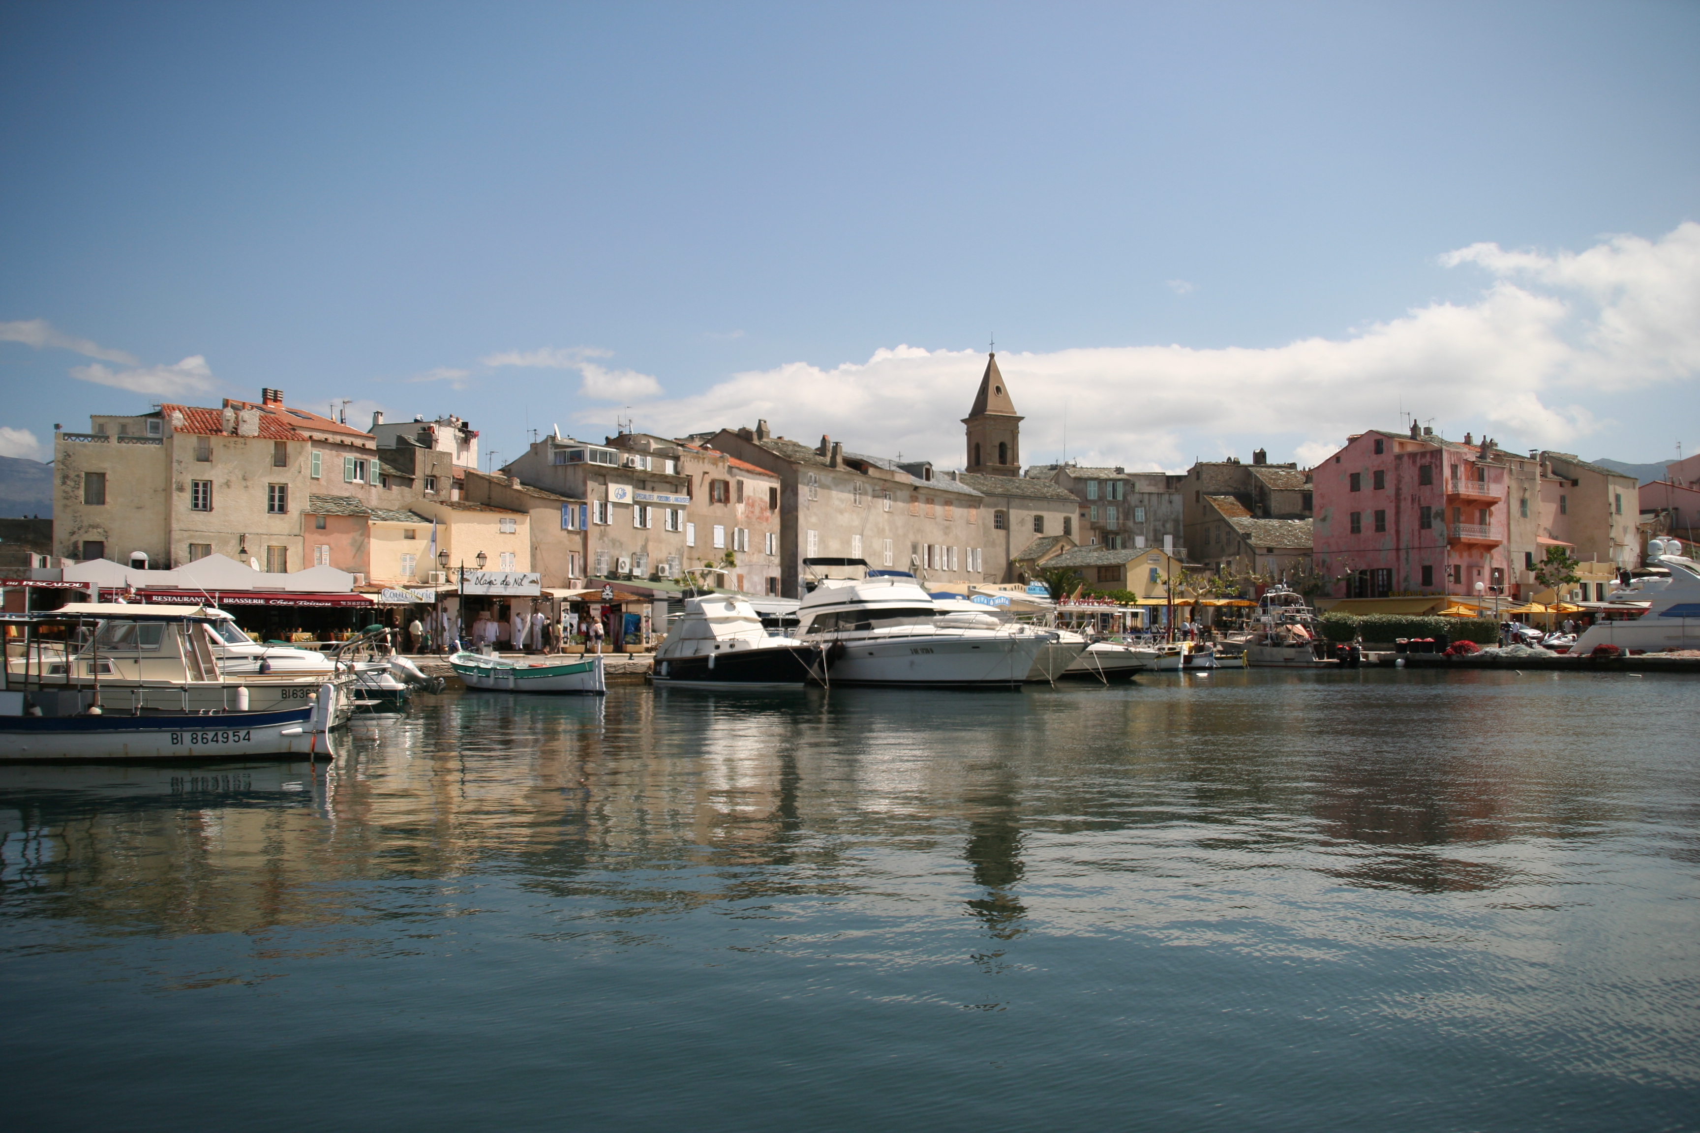
[[[801,688],[826,676],[824,647],[775,637],[738,595],[685,600],[685,613],[654,651],[654,685],[695,688]]]

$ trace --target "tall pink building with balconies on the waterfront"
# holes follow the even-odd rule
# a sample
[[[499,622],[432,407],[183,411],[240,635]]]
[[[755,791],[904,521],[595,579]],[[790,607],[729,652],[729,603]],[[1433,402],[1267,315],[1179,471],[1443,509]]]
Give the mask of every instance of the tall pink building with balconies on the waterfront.
[[[1312,561],[1333,596],[1516,591],[1511,460],[1464,440],[1368,431],[1312,469]]]

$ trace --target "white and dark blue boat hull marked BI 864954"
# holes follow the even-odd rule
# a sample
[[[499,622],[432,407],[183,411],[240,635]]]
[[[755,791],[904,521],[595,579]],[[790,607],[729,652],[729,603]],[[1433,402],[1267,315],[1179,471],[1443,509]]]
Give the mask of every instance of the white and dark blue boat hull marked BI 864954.
[[[308,756],[323,751],[313,705],[207,715],[0,717],[0,759],[124,761]]]

